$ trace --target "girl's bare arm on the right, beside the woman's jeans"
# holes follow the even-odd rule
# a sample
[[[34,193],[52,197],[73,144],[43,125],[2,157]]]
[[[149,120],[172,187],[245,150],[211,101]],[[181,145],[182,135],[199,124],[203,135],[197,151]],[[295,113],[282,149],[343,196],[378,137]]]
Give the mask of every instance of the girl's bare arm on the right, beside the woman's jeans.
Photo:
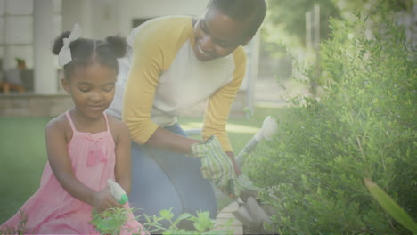
[[[126,191],[127,195],[130,194],[131,185],[131,173],[132,173],[132,157],[131,157],[131,138],[129,129],[125,124],[112,118],[114,120],[114,130],[116,133],[116,166],[114,170],[114,176],[116,182]]]

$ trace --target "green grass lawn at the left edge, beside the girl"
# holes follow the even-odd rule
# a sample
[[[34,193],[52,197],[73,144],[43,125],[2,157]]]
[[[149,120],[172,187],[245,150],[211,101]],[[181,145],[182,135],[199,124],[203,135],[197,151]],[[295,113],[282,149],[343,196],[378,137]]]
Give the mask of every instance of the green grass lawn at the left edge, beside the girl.
[[[0,118],[0,223],[39,187],[46,163],[45,125],[50,118]]]

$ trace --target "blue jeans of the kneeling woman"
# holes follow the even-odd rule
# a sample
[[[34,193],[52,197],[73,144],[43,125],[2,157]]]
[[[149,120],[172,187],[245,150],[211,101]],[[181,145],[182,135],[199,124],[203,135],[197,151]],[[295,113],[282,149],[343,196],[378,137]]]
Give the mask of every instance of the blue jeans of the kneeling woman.
[[[165,127],[168,131],[185,136],[178,124]],[[199,158],[158,150],[132,142],[132,190],[129,202],[140,208],[135,215],[159,215],[159,211],[172,208],[174,215],[208,211],[217,216],[217,203],[213,187],[200,173]],[[186,223],[184,223],[186,224]],[[168,223],[162,223],[167,227]],[[182,227],[189,227],[184,225]]]

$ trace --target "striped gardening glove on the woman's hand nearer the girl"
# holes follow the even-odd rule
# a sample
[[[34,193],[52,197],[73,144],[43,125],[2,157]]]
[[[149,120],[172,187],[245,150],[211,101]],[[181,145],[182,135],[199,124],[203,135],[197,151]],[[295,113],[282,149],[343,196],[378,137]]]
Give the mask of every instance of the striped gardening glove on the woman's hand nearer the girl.
[[[222,149],[215,135],[204,142],[194,143],[191,146],[192,157],[201,159],[201,174],[213,182],[223,193],[236,197],[240,195],[240,188],[235,187],[232,160]]]

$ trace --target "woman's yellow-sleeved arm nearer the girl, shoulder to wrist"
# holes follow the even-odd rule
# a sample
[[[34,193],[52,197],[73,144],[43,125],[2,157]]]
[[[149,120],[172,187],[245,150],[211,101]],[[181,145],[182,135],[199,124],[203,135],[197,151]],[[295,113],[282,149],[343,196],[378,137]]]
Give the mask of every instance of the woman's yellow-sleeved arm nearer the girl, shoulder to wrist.
[[[172,25],[173,22],[176,22]],[[180,46],[188,38],[182,31],[192,30],[190,19],[182,22],[159,20],[142,28],[135,36],[134,55],[123,103],[123,121],[133,141],[157,148],[189,153],[196,140],[172,134],[151,121],[156,87],[160,75],[169,68]],[[186,27],[184,27],[186,25]],[[183,27],[182,30],[173,28]],[[170,35],[170,36],[168,36]]]

